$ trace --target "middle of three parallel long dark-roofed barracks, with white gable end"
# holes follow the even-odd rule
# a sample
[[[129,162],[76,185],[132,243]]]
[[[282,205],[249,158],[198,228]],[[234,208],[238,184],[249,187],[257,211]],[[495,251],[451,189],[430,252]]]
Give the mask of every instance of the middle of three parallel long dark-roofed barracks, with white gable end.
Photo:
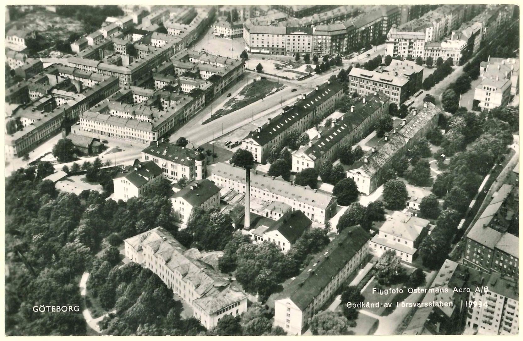
[[[334,158],[339,146],[354,144],[366,137],[374,129],[374,123],[388,114],[389,107],[389,97],[381,92],[357,97],[349,112],[333,119],[330,126],[319,127],[316,138],[292,153],[292,171],[301,172],[305,168],[319,170],[325,160]]]

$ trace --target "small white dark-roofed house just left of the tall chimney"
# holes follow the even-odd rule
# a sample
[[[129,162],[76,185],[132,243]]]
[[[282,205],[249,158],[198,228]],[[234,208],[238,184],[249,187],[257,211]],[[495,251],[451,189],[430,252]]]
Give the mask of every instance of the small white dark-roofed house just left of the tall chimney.
[[[220,208],[220,188],[209,179],[200,179],[177,191],[169,200],[175,219],[180,222],[180,228],[185,229],[193,209]]]

